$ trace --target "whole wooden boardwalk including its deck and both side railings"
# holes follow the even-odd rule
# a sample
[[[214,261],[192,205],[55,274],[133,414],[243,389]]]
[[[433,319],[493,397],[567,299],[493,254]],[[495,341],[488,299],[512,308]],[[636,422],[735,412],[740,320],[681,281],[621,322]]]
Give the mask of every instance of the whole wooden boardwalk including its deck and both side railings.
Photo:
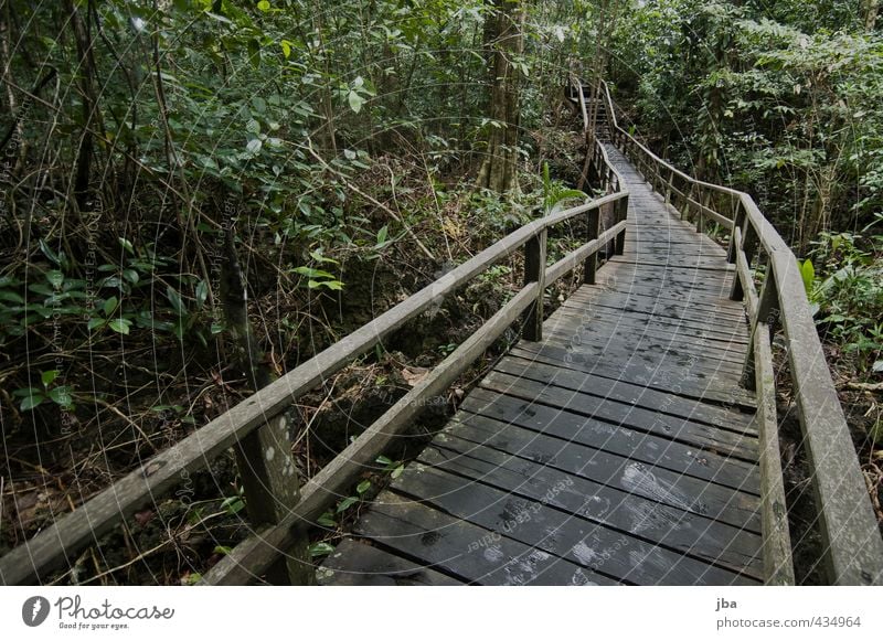
[[[574,97],[588,134],[582,88]],[[770,353],[781,331],[829,579],[882,584],[883,542],[794,255],[751,196],[663,162],[618,126],[606,85],[598,99],[607,140],[587,136],[587,172],[606,195],[521,227],[146,462],[0,558],[0,582],[63,568],[230,447],[255,533],[203,583],[311,582],[305,531],[521,318],[522,340],[365,510],[319,583],[792,584]],[[549,265],[547,230],[577,216],[588,237]],[[274,454],[290,442],[296,399],[522,247],[514,298],[299,488]],[[585,284],[543,321],[544,289],[578,264]]]

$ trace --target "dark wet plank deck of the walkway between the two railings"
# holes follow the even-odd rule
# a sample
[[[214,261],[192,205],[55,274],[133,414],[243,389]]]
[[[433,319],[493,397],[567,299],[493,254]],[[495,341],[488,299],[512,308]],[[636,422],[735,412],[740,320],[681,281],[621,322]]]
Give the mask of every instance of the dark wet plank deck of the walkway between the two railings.
[[[626,253],[469,394],[321,584],[763,582],[734,270],[607,152],[630,191]]]

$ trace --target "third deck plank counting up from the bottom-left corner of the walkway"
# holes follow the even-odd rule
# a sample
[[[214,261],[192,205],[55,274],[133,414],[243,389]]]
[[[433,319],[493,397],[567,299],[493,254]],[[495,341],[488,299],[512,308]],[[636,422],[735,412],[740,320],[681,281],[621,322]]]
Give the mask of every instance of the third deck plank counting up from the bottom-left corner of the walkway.
[[[547,503],[526,500],[419,462],[392,489],[461,520],[636,585],[757,584],[658,545],[591,523]]]

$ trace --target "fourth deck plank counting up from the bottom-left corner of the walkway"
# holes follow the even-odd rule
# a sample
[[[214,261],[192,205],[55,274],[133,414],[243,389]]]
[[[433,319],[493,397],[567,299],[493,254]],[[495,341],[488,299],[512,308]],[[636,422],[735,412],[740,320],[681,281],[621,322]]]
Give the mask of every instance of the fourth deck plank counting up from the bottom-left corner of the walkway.
[[[487,448],[475,446],[475,455],[464,455],[457,451],[464,442],[457,440],[433,444],[419,461],[684,555],[763,576],[760,536],[755,533]]]

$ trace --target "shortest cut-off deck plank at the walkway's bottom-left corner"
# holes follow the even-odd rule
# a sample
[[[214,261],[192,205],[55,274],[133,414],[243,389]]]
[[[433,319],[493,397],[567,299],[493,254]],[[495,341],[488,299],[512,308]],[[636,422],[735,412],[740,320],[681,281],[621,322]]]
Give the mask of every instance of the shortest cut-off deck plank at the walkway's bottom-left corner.
[[[316,572],[322,586],[450,586],[465,583],[351,538],[341,542]]]

